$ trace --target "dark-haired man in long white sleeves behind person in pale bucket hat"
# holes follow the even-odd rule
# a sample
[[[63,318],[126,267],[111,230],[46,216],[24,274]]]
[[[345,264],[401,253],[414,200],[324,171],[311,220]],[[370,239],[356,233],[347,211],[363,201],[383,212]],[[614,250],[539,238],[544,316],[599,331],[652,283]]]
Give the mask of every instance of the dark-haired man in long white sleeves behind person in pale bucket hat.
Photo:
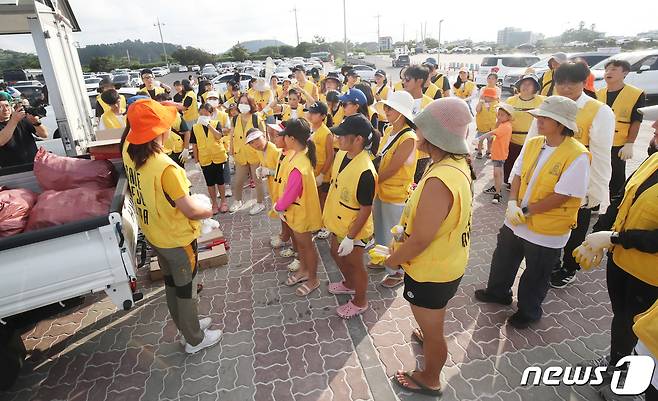
[[[610,151],[615,133],[615,115],[610,107],[587,96],[583,91],[589,74],[589,68],[582,63],[565,63],[557,68],[553,77],[557,94],[576,102],[579,133],[575,138],[587,146],[592,155],[587,196],[578,211],[577,226],[571,231],[569,241],[564,246],[562,263],[558,261],[551,275],[553,288],[564,288],[575,280],[580,266],[573,258],[572,252],[587,235],[592,210],[599,208],[600,212],[604,213],[610,204]],[[537,136],[536,120],[530,126],[526,143],[534,136]]]

